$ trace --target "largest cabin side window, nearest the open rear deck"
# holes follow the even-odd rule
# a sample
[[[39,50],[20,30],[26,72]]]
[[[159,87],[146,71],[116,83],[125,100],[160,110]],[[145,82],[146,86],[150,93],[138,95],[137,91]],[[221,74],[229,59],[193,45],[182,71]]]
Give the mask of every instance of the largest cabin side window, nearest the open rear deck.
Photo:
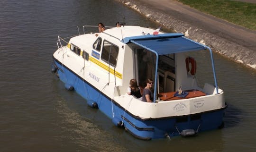
[[[101,53],[101,59],[107,62],[108,64],[116,67],[118,52],[119,52],[118,46],[111,44],[108,41],[104,41],[103,49]]]

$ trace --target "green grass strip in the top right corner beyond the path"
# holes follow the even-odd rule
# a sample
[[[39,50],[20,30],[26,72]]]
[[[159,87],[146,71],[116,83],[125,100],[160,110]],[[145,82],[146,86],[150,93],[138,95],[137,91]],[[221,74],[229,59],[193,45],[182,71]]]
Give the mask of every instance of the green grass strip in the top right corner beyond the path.
[[[256,4],[234,0],[178,0],[201,12],[256,31]]]

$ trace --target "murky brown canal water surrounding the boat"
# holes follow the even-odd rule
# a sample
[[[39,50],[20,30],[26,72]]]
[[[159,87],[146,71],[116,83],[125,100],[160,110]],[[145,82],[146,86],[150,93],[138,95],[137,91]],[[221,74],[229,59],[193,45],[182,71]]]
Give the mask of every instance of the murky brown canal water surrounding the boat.
[[[142,141],[115,127],[50,72],[57,35],[77,26],[156,28],[115,0],[0,1],[0,152],[233,152],[256,151],[256,71],[214,53],[225,92],[225,127],[195,137]],[[82,28],[80,28],[82,31]],[[205,59],[199,53],[198,59]],[[198,76],[211,81],[198,63]]]

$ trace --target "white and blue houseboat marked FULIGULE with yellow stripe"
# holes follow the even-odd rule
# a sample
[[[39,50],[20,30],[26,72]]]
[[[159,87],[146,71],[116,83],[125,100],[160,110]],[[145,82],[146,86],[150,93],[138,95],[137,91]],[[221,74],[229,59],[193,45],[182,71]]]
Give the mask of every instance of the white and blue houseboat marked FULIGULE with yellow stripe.
[[[223,127],[227,104],[208,46],[180,33],[140,26],[111,27],[101,33],[87,30],[91,27],[83,26],[83,34],[68,39],[58,36],[51,71],[67,90],[143,140]],[[197,56],[187,55],[197,51],[210,52],[213,84],[197,84]],[[152,102],[128,95],[131,79],[137,80],[142,94],[147,78],[153,81]]]

